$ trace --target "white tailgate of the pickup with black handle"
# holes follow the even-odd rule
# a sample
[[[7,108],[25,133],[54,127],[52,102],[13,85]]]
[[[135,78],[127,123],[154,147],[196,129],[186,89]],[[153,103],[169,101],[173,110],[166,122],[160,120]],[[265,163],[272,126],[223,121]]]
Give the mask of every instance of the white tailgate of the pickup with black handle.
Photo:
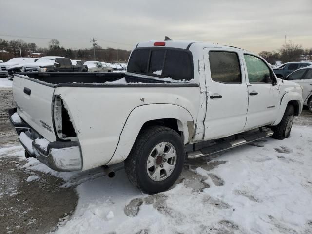
[[[13,80],[13,97],[20,117],[49,141],[55,141],[52,120],[54,87],[18,75]]]

